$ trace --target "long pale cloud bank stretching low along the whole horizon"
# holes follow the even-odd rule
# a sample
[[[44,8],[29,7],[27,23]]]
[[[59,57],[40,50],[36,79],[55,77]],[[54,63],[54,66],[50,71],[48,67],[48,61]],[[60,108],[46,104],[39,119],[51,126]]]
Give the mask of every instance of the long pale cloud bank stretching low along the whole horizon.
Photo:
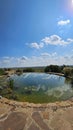
[[[10,57],[10,59],[12,58]],[[56,52],[54,53],[45,52],[42,53],[39,57],[38,56],[32,56],[30,58],[27,57],[27,60],[22,60],[21,57],[19,58],[15,57],[12,60],[9,60],[9,62],[5,61],[4,58],[0,59],[0,67],[47,66],[50,64],[73,65],[73,55],[59,56]]]

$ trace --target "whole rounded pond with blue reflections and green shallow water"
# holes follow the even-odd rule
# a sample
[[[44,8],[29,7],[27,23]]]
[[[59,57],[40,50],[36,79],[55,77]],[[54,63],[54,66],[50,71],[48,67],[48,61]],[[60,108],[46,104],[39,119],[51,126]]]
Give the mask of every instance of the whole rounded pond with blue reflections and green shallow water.
[[[14,92],[29,102],[54,102],[73,97],[73,88],[65,77],[46,73],[23,73],[9,77]]]

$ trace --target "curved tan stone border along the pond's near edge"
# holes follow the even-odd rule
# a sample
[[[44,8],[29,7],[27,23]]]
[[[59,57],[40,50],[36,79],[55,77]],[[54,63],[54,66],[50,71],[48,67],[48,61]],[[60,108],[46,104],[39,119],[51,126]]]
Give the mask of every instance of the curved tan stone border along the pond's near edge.
[[[52,109],[53,111],[56,111],[57,109],[63,109],[63,108],[70,108],[73,107],[73,99],[67,100],[67,101],[60,101],[60,102],[54,102],[54,103],[44,103],[44,104],[34,104],[29,102],[17,102],[13,100],[8,100],[6,98],[0,99],[0,103],[7,104],[9,106],[12,106],[14,108],[34,108],[39,110],[44,110],[46,108]]]

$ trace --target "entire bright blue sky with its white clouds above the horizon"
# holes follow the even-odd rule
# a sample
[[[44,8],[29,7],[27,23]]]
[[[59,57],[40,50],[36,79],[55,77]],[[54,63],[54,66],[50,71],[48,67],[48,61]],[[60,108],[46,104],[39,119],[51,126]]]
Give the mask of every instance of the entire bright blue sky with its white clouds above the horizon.
[[[0,0],[0,67],[73,65],[73,0]]]

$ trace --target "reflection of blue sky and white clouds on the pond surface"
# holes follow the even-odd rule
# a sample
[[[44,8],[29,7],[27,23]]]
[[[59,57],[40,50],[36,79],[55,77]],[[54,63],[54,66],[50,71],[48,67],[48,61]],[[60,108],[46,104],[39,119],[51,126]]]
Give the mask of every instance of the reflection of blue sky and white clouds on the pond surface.
[[[68,99],[73,96],[73,83],[71,80],[62,76],[45,73],[24,73],[20,76],[12,75],[16,91],[25,92],[44,92],[48,96],[60,99]]]

